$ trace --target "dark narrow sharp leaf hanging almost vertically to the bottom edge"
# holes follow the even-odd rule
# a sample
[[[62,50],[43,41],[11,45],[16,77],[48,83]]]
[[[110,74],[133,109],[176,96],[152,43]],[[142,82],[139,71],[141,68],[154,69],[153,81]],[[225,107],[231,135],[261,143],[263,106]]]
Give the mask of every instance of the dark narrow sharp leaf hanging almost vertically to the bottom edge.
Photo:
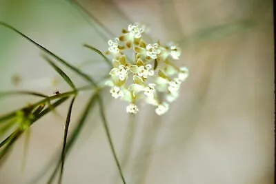
[[[66,141],[67,141],[67,135],[68,135],[68,130],[69,130],[69,124],[70,124],[70,119],[71,119],[71,113],[72,113],[72,106],[75,101],[75,96],[73,97],[70,107],[68,110],[67,118],[66,118],[66,123],[65,123],[65,128],[64,128],[64,136],[63,136],[63,147],[62,147],[62,152],[61,152],[61,172],[59,174],[59,184],[61,184],[62,180],[62,175],[63,175],[63,167],[64,167],[64,161],[65,161],[65,148],[66,148]]]

